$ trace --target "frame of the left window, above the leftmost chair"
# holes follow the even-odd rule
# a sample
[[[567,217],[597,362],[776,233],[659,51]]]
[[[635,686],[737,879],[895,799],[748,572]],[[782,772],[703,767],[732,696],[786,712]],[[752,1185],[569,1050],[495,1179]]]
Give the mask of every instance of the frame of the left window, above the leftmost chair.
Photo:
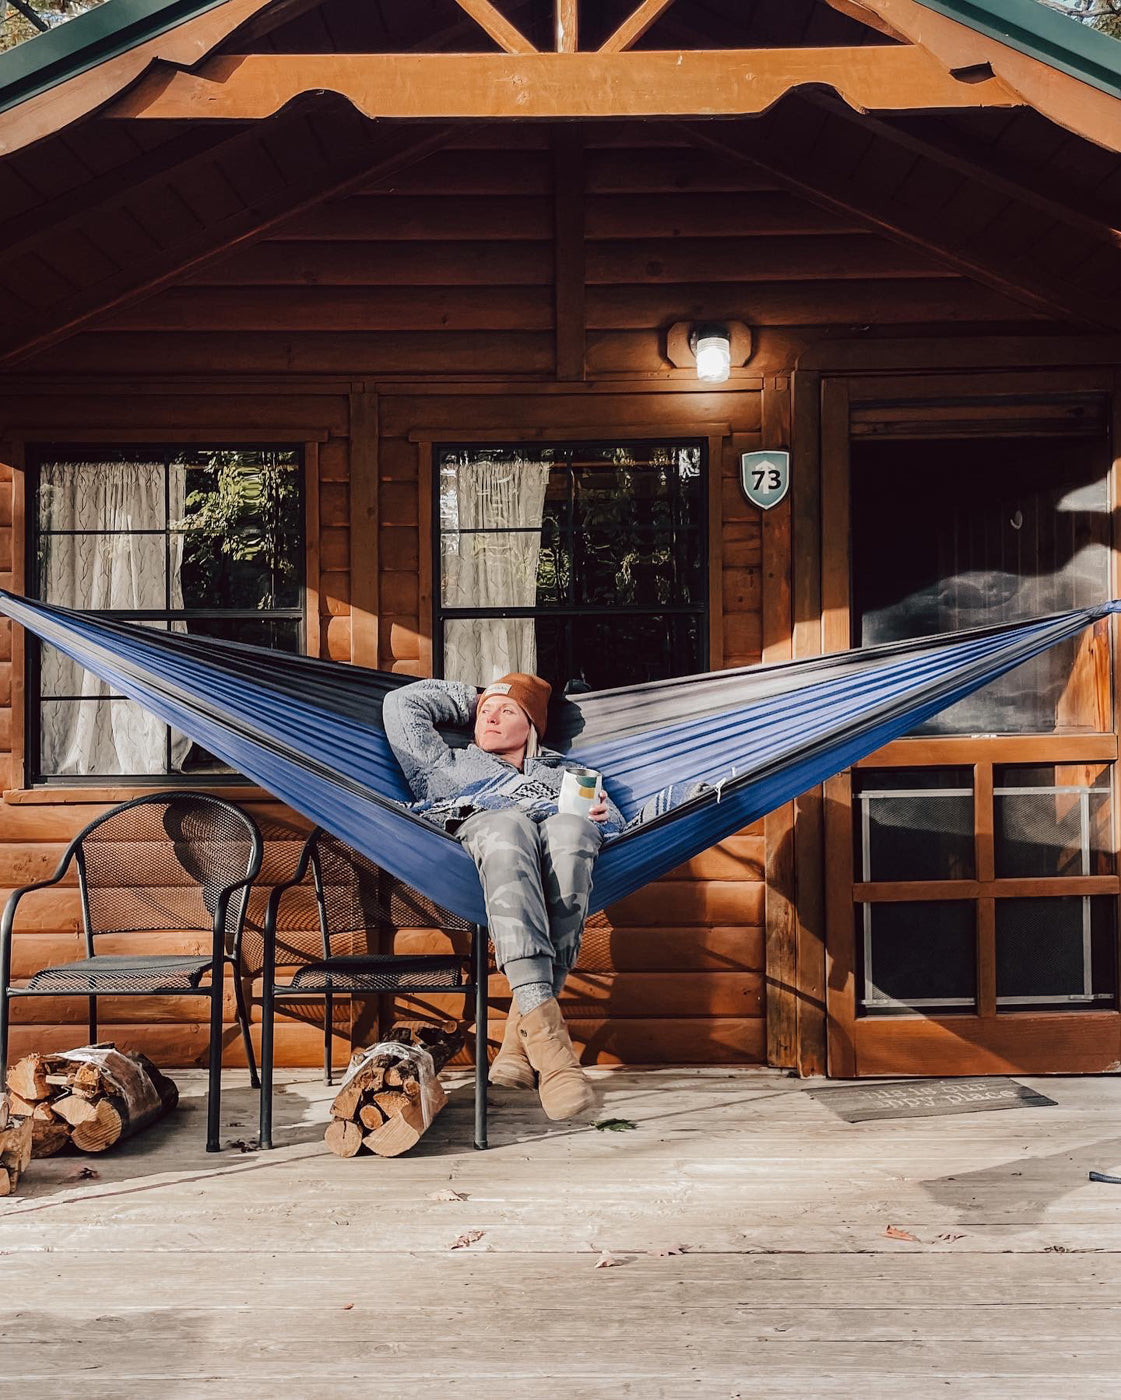
[[[49,459],[50,454],[57,454],[63,461],[74,459],[85,454],[90,459],[106,452],[153,452],[161,458],[168,458],[178,452],[292,452],[298,462],[294,470],[299,479],[299,511],[298,511],[298,540],[297,557],[302,563],[299,581],[299,602],[292,608],[276,608],[262,612],[248,608],[181,608],[181,609],[137,609],[129,615],[132,622],[137,620],[190,620],[197,617],[274,617],[279,620],[297,622],[298,651],[306,655],[312,643],[318,648],[318,629],[309,622],[312,610],[318,612],[318,580],[312,582],[312,546],[318,543],[312,539],[312,529],[316,526],[318,511],[312,512],[312,498],[318,498],[318,441],[302,434],[292,434],[288,438],[280,434],[266,437],[242,437],[224,433],[192,433],[189,437],[161,437],[160,434],[139,435],[136,433],[97,435],[43,435],[27,440],[22,445],[22,477],[24,477],[24,560],[25,578],[24,591],[27,596],[39,599],[41,578],[38,567],[38,539],[39,539],[39,469]],[[167,465],[167,462],[165,462]],[[64,532],[63,532],[64,533]],[[167,531],[164,531],[167,533]],[[315,584],[315,585],[313,585]],[[92,617],[118,617],[119,612],[111,609],[91,609]],[[316,617],[318,620],[318,617]],[[43,773],[41,767],[41,645],[38,637],[27,636],[24,644],[24,724],[22,724],[22,787],[27,790],[62,792],[67,788],[78,790],[150,790],[167,787],[174,783],[176,787],[199,788],[238,788],[245,790],[249,780],[241,773]]]

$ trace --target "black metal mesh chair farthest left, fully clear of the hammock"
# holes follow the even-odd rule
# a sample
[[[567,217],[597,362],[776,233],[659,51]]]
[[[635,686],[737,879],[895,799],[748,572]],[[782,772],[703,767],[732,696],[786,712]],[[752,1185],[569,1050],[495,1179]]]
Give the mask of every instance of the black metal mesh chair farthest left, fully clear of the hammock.
[[[241,935],[249,886],[260,869],[262,839],[241,808],[206,792],[153,792],[95,818],[70,843],[50,879],[13,890],[0,920],[0,1074],[7,1067],[11,1001],[18,997],[90,998],[90,1040],[98,1037],[98,997],[209,997],[210,1099],[207,1152],[220,1148],[223,986],[234,973],[238,1022],[252,1082],[259,1084],[241,983]],[[11,934],[24,895],[57,885],[70,867],[78,879],[87,956],[43,967],[11,986]],[[98,953],[98,938],[204,934],[209,951]],[[196,939],[202,941],[202,939]],[[206,981],[206,984],[204,984]]]

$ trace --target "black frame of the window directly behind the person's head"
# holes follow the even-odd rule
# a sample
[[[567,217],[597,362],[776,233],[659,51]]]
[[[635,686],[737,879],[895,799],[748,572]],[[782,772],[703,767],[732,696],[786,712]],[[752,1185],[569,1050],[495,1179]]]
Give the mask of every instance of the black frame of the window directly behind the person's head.
[[[661,448],[693,448],[698,454],[700,462],[700,524],[697,526],[700,536],[700,557],[704,560],[704,588],[701,592],[701,601],[697,603],[680,603],[680,605],[634,605],[634,603],[602,603],[602,605],[572,605],[572,606],[550,606],[550,608],[445,608],[444,606],[444,575],[442,575],[442,550],[441,543],[444,539],[442,519],[441,519],[441,468],[442,458],[448,452],[607,452],[616,451],[619,448],[631,447],[661,447]],[[605,462],[605,466],[610,463]],[[698,636],[698,655],[697,655],[697,672],[705,672],[710,666],[711,658],[711,531],[710,531],[710,441],[703,434],[668,434],[666,437],[649,435],[649,434],[635,434],[635,435],[612,435],[612,437],[588,437],[588,438],[549,438],[546,435],[532,440],[504,438],[502,441],[477,441],[465,435],[463,438],[453,438],[432,444],[431,452],[431,482],[432,482],[432,510],[431,510],[431,577],[432,577],[432,673],[437,676],[444,675],[444,623],[448,619],[455,617],[554,617],[554,619],[578,619],[578,617],[595,617],[595,616],[617,616],[620,613],[637,617],[662,617],[662,616],[693,616],[698,619],[697,636]],[[570,500],[571,510],[571,500]],[[676,540],[676,535],[675,535]],[[575,557],[575,556],[574,556]],[[571,673],[571,658],[572,658],[572,637],[571,629],[567,629],[567,655],[568,655],[568,671]],[[689,675],[690,672],[682,672],[682,675]]]

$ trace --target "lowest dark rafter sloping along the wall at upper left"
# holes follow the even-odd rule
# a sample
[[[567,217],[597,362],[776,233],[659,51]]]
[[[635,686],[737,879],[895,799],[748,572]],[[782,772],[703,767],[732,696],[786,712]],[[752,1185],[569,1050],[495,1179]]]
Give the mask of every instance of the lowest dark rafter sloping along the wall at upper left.
[[[294,113],[291,120],[304,118]],[[388,134],[378,130],[376,137],[367,137],[365,141],[340,139],[330,146],[334,158],[318,167],[311,165],[302,181],[279,178],[276,192],[252,207],[193,230],[182,241],[84,288],[80,297],[67,300],[57,308],[36,312],[27,322],[8,321],[0,333],[0,364],[11,364],[45,350],[106,311],[132,305],[216,258],[263,238],[295,214],[423,160],[444,146],[448,134],[446,130],[417,134],[413,127],[397,127]],[[244,139],[248,141],[252,137]]]

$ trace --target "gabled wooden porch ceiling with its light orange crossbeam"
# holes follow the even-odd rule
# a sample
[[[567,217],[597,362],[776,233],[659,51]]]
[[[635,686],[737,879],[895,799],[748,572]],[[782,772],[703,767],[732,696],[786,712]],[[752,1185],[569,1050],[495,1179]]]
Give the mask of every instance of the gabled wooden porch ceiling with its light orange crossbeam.
[[[509,0],[502,17],[536,46],[549,38],[546,8],[553,15],[551,6]],[[22,102],[0,118],[0,154],[10,153],[0,160],[8,211],[0,288],[10,308],[0,363],[183,280],[301,209],[421,160],[470,116],[589,118],[600,108],[651,119],[761,113],[682,122],[677,139],[766,171],[1033,316],[1121,326],[1121,160],[1072,132],[1079,113],[1106,104],[1121,146],[1115,98],[1048,69],[1051,106],[1071,119],[1043,115],[1013,84],[1031,73],[1006,69],[991,38],[917,0],[610,0],[596,13],[582,52],[452,55],[502,48],[456,0],[434,0],[423,20],[396,0],[364,7],[358,28],[341,0],[225,0]],[[628,15],[631,32],[619,38]],[[949,31],[915,28],[917,15],[949,25],[957,48]],[[897,43],[896,34],[921,42]],[[586,52],[588,41],[612,35],[633,52]],[[729,48],[745,35],[752,49]],[[844,48],[796,46],[823,42]],[[670,43],[686,52],[658,52]],[[977,43],[989,45],[991,67],[977,67]],[[255,52],[230,52],[235,46]],[[963,56],[967,71],[952,71]],[[452,66],[455,78],[441,76]],[[125,97],[115,98],[122,85]],[[371,123],[355,105],[445,120]],[[101,112],[90,116],[90,106]],[[38,144],[18,150],[24,140]]]

